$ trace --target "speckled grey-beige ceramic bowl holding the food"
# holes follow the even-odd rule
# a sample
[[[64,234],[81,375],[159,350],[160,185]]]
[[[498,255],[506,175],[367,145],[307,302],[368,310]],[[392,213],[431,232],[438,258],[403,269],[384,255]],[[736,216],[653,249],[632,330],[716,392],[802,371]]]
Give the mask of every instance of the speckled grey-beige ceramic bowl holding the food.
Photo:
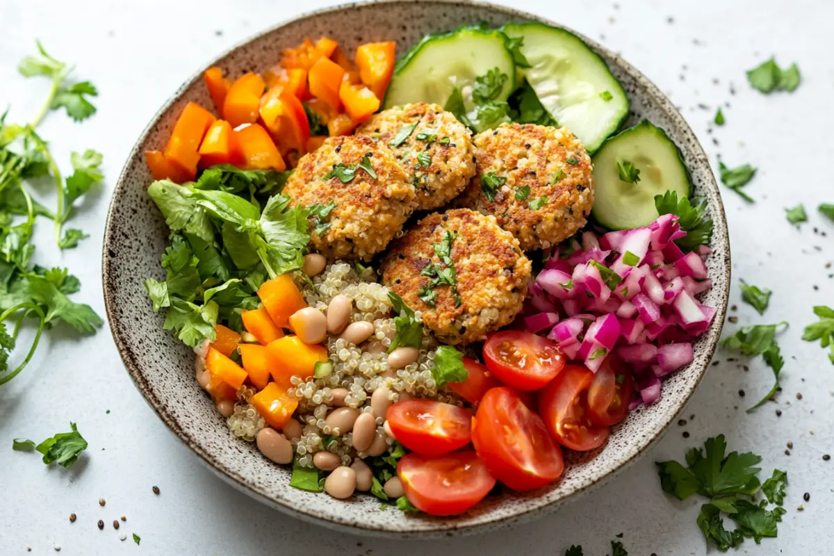
[[[311,13],[259,34],[208,66],[219,66],[233,78],[248,70],[263,71],[276,62],[281,48],[305,37],[326,35],[349,50],[368,41],[395,40],[402,54],[425,33],[486,21],[499,26],[535,16],[485,3],[414,0],[362,3]],[[558,25],[558,23],[550,23]],[[709,201],[715,222],[712,254],[706,264],[713,288],[706,303],[718,309],[714,325],[696,343],[695,360],[663,383],[663,396],[650,408],[631,413],[611,433],[610,441],[590,453],[566,453],[565,475],[535,493],[506,493],[486,498],[477,508],[452,518],[414,517],[381,512],[369,496],[340,501],[325,494],[289,487],[289,470],[262,457],[253,444],[229,434],[223,418],[194,380],[193,353],[163,331],[163,315],[153,313],[144,291],[145,277],[162,278],[159,255],[168,240],[161,214],[145,194],[151,183],[143,151],[162,148],[185,103],[212,106],[198,68],[153,118],[138,139],[118,180],[110,204],[103,249],[104,298],[113,338],[128,373],[159,418],[209,468],[226,482],[260,502],[299,518],[354,533],[409,537],[475,533],[555,510],[570,497],[610,477],[660,438],[676,418],[706,372],[721,335],[730,287],[730,246],[715,178],[695,135],[655,85],[628,63],[585,39],[600,53],[631,99],[628,125],[640,118],[666,129],[681,148],[696,193]]]

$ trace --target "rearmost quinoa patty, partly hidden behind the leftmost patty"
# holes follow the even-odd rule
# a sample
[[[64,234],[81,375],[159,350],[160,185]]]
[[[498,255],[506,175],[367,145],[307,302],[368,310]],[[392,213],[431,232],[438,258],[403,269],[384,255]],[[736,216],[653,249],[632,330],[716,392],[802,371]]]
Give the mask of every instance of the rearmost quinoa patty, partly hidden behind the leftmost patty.
[[[370,118],[358,133],[379,138],[394,151],[417,190],[415,210],[449,203],[475,175],[469,128],[437,104],[414,103],[385,110]]]

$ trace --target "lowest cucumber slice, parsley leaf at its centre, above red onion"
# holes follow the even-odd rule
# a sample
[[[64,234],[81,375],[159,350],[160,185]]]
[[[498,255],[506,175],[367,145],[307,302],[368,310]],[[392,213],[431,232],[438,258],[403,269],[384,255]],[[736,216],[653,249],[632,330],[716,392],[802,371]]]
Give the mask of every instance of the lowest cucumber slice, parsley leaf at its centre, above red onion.
[[[658,217],[655,195],[689,197],[691,183],[680,149],[661,128],[643,120],[605,141],[594,163],[594,218],[613,230],[648,226]],[[620,163],[640,170],[640,181],[620,179]]]

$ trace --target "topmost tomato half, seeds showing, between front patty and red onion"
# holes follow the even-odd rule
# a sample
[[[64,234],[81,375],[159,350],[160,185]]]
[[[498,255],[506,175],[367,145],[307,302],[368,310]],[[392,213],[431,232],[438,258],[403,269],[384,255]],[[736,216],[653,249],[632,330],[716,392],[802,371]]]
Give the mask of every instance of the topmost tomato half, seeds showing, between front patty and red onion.
[[[565,367],[565,356],[543,336],[520,330],[490,334],[484,344],[486,367],[502,383],[517,390],[544,388]]]

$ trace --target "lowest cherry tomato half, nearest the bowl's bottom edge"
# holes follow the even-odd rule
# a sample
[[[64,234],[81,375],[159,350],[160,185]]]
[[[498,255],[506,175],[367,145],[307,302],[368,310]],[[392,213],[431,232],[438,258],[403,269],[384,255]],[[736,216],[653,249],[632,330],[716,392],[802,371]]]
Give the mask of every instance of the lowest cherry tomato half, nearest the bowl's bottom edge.
[[[463,513],[495,486],[495,478],[471,450],[435,458],[409,453],[400,458],[397,476],[409,502],[431,515]]]

